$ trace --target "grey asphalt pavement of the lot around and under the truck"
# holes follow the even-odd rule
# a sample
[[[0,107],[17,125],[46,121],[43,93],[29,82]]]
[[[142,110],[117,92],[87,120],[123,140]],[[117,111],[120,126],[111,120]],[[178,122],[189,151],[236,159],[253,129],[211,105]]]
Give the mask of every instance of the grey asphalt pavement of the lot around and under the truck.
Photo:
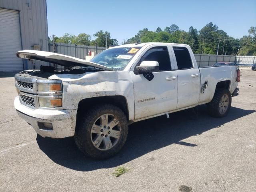
[[[0,74],[0,192],[256,191],[256,71],[241,69],[239,95],[224,118],[198,109],[129,126],[113,158],[92,160],[73,138],[42,138],[13,106],[13,74]],[[118,167],[127,173],[115,177]]]

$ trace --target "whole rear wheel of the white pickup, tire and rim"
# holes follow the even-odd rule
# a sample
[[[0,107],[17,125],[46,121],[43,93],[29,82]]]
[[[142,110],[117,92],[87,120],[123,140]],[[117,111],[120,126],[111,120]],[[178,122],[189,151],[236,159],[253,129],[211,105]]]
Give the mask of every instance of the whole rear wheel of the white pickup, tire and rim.
[[[214,117],[224,117],[228,114],[232,102],[230,91],[227,89],[217,88],[208,104],[208,112]]]

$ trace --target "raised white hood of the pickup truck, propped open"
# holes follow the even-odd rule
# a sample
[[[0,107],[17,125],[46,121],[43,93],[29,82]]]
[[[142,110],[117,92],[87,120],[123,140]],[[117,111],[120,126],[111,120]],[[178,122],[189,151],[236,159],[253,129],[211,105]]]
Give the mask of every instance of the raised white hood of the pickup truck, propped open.
[[[62,55],[58,53],[46,52],[46,51],[23,50],[23,51],[18,51],[16,53],[16,56],[23,59],[32,59],[32,60],[50,62],[50,63],[58,64],[64,67],[68,67],[68,68],[75,67],[75,66],[81,66],[81,67],[92,66],[92,67],[96,67],[96,68],[100,68],[108,71],[114,70],[114,69],[105,67],[103,65],[96,64],[94,62],[85,61],[83,59],[78,59],[75,57]]]

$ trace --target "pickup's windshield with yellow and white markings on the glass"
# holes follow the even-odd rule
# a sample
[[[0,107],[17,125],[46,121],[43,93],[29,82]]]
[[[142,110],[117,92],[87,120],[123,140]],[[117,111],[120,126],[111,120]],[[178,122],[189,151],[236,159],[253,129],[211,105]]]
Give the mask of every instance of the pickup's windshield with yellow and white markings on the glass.
[[[118,71],[124,70],[141,47],[120,47],[100,52],[90,61]]]

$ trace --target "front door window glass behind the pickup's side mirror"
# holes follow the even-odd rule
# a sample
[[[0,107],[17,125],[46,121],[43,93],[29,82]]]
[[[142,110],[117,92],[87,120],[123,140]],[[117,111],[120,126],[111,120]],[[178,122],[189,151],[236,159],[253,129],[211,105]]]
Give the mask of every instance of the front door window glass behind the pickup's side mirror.
[[[151,48],[142,56],[142,61],[157,61],[159,63],[159,71],[172,70],[167,47]]]

